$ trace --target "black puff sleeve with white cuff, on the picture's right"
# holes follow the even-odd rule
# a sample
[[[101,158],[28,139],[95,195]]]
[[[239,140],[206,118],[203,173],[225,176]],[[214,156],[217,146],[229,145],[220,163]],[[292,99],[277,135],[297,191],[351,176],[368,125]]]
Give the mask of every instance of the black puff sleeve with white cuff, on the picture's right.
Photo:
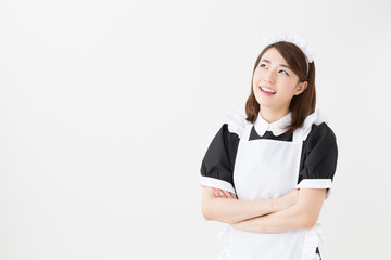
[[[325,123],[313,125],[303,143],[298,188],[327,188],[331,193],[331,183],[337,168],[338,147],[333,131]]]

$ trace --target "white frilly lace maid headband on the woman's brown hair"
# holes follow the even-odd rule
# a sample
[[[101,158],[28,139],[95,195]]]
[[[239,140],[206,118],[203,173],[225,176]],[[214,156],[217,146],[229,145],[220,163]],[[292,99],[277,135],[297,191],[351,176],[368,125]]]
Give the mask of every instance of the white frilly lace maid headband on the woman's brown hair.
[[[288,42],[291,42],[291,43],[295,44],[297,47],[299,47],[300,50],[302,50],[302,52],[305,55],[305,58],[307,61],[307,70],[308,70],[308,63],[312,63],[314,61],[314,54],[313,54],[312,49],[308,47],[308,44],[302,38],[300,38],[298,35],[274,35],[274,36],[268,35],[268,36],[265,36],[261,42],[261,52],[267,46],[279,42],[279,41],[288,41]]]

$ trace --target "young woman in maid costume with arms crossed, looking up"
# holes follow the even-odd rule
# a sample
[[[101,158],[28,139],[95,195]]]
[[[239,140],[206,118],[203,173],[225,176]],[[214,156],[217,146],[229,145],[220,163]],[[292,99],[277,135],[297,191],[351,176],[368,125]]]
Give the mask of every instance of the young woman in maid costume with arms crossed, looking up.
[[[247,116],[228,115],[201,165],[202,213],[229,224],[219,234],[219,259],[320,259],[317,220],[338,148],[315,104],[306,43],[298,36],[266,38]]]

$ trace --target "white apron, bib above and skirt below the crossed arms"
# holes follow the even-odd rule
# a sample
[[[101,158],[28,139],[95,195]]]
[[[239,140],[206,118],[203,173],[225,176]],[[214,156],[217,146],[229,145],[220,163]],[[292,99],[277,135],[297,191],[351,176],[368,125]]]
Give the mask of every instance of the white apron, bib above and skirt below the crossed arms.
[[[234,169],[238,199],[277,198],[298,184],[303,131],[293,132],[292,142],[257,139],[249,141],[251,128],[243,129]],[[265,234],[228,225],[219,234],[224,260],[317,260],[320,226]]]

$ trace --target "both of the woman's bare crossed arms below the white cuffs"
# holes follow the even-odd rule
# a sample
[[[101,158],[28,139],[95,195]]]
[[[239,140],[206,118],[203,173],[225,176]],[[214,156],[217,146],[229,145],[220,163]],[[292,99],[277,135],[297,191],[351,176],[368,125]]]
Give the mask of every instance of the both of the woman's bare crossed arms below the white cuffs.
[[[275,199],[239,200],[228,192],[204,187],[202,213],[236,229],[279,233],[314,226],[325,198],[326,188],[303,188]]]

